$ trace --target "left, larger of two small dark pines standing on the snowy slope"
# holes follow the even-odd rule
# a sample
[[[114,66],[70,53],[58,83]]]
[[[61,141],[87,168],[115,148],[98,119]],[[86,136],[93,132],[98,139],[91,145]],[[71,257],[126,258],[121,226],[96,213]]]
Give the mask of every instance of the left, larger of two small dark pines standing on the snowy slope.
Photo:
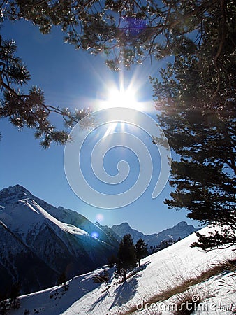
[[[127,272],[136,266],[136,253],[133,239],[130,234],[124,235],[119,244],[117,275],[126,281]]]

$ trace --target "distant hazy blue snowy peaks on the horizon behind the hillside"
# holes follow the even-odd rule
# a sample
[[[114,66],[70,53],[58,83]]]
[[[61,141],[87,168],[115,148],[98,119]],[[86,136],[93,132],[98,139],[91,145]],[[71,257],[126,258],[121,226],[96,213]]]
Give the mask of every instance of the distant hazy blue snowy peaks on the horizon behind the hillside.
[[[138,239],[144,239],[145,242],[149,246],[156,246],[161,243],[161,241],[173,239],[177,240],[184,239],[184,237],[187,237],[191,235],[193,232],[199,230],[197,228],[194,228],[193,225],[188,225],[186,222],[182,221],[179,222],[177,225],[173,226],[172,228],[168,228],[163,230],[162,232],[151,234],[151,235],[145,235],[142,232],[139,232],[137,230],[134,230],[131,228],[128,223],[121,223],[119,225],[112,225],[112,231],[114,231],[119,237],[124,237],[126,234],[131,234],[133,237],[133,241],[136,242]]]

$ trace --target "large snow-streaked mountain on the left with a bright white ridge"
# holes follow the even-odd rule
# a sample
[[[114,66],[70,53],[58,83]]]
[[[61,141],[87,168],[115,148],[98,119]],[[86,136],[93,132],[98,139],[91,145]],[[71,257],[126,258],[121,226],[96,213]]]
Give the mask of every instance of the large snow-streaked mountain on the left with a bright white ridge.
[[[118,241],[75,211],[56,208],[16,185],[0,192],[0,293],[22,293],[91,271],[117,253]],[[96,235],[96,237],[94,237]]]

